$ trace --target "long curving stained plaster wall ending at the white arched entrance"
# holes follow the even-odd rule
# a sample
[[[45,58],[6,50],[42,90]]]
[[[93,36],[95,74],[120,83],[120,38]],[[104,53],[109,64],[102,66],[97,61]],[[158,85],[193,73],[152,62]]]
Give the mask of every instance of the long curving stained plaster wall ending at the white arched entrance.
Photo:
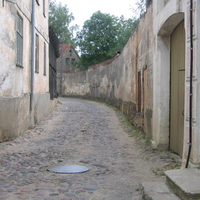
[[[112,103],[152,135],[152,7],[141,19],[120,56],[110,64],[63,75],[62,94]]]

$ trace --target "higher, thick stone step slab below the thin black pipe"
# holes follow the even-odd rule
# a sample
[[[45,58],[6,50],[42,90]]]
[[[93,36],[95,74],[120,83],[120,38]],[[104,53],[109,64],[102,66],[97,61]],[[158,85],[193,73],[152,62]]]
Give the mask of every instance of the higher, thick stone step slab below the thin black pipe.
[[[182,200],[200,200],[200,170],[169,170],[165,174],[167,185]]]

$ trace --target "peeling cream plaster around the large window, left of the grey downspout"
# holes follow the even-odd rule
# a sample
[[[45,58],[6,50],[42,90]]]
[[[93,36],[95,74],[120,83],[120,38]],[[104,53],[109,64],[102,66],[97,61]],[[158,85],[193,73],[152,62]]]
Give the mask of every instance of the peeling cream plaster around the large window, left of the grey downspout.
[[[30,6],[28,3],[20,2],[20,6],[26,8]],[[28,9],[28,8],[27,8]],[[26,10],[25,10],[26,11]],[[21,16],[23,12],[18,12]],[[24,40],[23,47],[30,49],[30,12],[26,11],[27,18],[24,18]],[[23,60],[23,68],[16,66],[16,16],[17,10],[13,5],[5,3],[4,7],[0,9],[0,96],[17,97],[29,91],[29,76],[30,76],[30,51],[26,52]],[[14,31],[13,31],[14,30]]]

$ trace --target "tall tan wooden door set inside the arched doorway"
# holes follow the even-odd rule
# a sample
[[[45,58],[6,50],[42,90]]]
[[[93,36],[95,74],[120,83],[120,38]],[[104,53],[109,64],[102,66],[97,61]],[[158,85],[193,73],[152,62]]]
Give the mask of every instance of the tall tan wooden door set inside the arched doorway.
[[[182,156],[184,133],[185,30],[182,21],[171,35],[170,149]]]

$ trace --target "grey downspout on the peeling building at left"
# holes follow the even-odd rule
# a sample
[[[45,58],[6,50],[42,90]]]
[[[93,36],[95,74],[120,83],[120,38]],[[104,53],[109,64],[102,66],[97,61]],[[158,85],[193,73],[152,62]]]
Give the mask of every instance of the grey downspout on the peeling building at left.
[[[35,0],[32,0],[32,14],[31,14],[31,94],[30,94],[30,110],[33,111],[34,103],[34,67],[35,67]]]

